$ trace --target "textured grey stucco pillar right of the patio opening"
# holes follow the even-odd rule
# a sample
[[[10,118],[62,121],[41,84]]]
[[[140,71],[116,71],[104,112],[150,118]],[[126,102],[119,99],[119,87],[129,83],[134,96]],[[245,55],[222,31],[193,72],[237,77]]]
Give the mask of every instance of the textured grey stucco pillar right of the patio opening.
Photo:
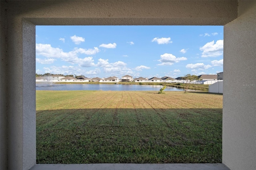
[[[239,1],[224,26],[222,161],[231,170],[256,169],[256,1]]]

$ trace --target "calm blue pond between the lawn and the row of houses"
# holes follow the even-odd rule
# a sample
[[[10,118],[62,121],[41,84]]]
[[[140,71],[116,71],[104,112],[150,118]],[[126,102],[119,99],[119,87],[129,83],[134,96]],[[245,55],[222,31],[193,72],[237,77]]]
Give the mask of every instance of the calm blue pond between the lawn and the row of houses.
[[[102,90],[102,91],[159,91],[162,85],[122,85],[122,84],[54,84],[36,83],[36,90]],[[164,91],[184,91],[167,86]]]

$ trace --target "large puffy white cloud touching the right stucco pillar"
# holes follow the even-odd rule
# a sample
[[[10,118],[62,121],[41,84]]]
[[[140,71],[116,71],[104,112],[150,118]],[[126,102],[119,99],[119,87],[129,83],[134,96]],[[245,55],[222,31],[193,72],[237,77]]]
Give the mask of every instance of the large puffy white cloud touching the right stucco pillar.
[[[223,54],[223,40],[218,40],[214,44],[214,41],[206,43],[203,47],[200,47],[202,57],[217,57]]]

